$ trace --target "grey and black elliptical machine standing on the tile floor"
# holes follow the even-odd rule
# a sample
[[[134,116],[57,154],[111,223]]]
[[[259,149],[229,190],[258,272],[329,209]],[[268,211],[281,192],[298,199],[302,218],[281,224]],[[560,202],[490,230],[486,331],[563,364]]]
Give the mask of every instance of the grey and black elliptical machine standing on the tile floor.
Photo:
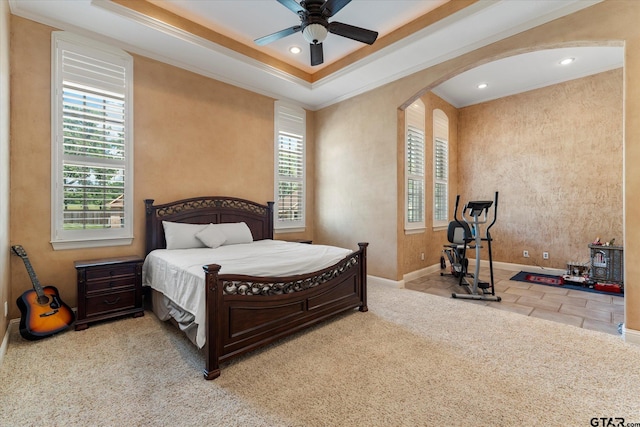
[[[491,232],[490,229],[496,223],[497,210],[498,210],[498,192],[496,191],[494,200],[482,200],[482,201],[470,201],[464,205],[462,209],[462,219],[458,219],[458,206],[460,203],[460,195],[456,197],[456,208],[453,213],[455,222],[465,230],[463,241],[464,245],[461,245],[461,259],[459,260],[459,268],[461,268],[459,274],[458,284],[465,287],[467,293],[459,294],[452,293],[452,298],[464,298],[474,300],[485,301],[501,301],[502,298],[496,296],[495,287],[493,282],[493,258],[491,254]],[[493,207],[493,209],[491,209]],[[491,210],[491,215],[489,211]],[[491,223],[484,228],[484,236],[482,235],[482,227],[489,222],[489,218],[493,217]],[[467,232],[469,230],[469,232]],[[480,280],[480,255],[482,249],[482,242],[487,243],[487,250],[489,253],[489,275],[490,281]],[[473,245],[471,245],[473,243]],[[475,249],[476,263],[475,271],[473,274],[469,273],[468,265],[469,260],[466,257],[467,249]],[[470,279],[470,280],[469,280]]]

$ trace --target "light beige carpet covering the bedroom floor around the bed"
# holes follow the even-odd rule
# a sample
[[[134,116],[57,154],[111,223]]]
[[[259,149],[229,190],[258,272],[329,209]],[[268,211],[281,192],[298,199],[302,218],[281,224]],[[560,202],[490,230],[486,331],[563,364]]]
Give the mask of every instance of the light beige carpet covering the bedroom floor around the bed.
[[[640,347],[369,283],[354,311],[223,365],[147,312],[27,342],[0,367],[0,425],[421,426],[640,423]]]

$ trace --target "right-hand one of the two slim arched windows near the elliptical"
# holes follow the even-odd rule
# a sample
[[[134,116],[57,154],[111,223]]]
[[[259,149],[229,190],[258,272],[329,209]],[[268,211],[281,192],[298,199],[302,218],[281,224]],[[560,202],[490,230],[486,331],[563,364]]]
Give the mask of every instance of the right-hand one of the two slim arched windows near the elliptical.
[[[433,111],[433,226],[449,221],[449,118]]]

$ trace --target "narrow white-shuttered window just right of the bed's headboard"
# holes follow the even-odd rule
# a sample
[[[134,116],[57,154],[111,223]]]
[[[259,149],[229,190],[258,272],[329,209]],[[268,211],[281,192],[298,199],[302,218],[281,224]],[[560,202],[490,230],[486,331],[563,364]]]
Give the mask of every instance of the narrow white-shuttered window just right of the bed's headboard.
[[[275,219],[280,232],[305,227],[305,134],[304,109],[275,104]]]

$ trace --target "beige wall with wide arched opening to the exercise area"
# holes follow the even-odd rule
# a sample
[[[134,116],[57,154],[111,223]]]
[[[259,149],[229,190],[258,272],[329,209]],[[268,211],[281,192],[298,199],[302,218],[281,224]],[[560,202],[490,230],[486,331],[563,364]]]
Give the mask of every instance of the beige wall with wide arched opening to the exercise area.
[[[606,0],[319,111],[316,144],[319,161],[323,163],[318,163],[318,167],[328,169],[322,170],[316,181],[317,191],[321,193],[317,197],[316,224],[324,224],[330,218],[335,222],[336,208],[328,202],[329,194],[338,184],[337,201],[340,205],[354,206],[353,210],[375,216],[375,221],[354,228],[325,228],[324,240],[352,241],[364,235],[373,241],[369,251],[370,265],[384,267],[373,267],[372,274],[381,274],[393,280],[401,278],[401,267],[398,266],[402,264],[395,250],[400,244],[396,209],[400,197],[398,165],[397,157],[393,162],[387,159],[394,153],[397,155],[398,151],[397,126],[388,127],[398,121],[397,109],[440,82],[488,61],[553,47],[613,44],[625,45],[623,241],[626,259],[636,259],[640,256],[640,241],[631,236],[640,234],[640,222],[636,220],[640,217],[640,203],[634,197],[640,192],[640,168],[634,165],[640,159],[640,144],[637,143],[640,140],[639,19],[640,2]],[[349,146],[345,146],[347,144]],[[355,153],[362,146],[368,150],[366,158],[351,154],[346,155],[350,160],[348,167],[346,162],[336,167],[330,165],[332,153]],[[354,161],[359,163],[353,164]],[[347,172],[342,172],[343,167]],[[354,169],[358,172],[354,173]],[[365,183],[370,185],[360,190]],[[371,187],[383,196],[373,196]],[[389,204],[393,204],[393,207],[389,208]],[[349,226],[357,221],[355,215],[345,215],[345,219]],[[625,238],[627,236],[630,237]],[[386,268],[393,264],[389,259],[397,260],[395,267]],[[640,331],[640,289],[635,286],[635,281],[640,279],[640,264],[627,262],[625,270],[625,322],[628,329]],[[637,339],[640,341],[640,336]]]

